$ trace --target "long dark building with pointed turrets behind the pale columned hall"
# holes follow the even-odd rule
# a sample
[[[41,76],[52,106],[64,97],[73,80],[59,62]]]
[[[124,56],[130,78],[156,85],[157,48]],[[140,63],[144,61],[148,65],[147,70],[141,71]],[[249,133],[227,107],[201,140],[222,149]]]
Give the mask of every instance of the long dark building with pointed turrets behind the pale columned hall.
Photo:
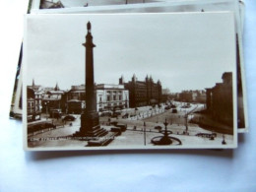
[[[121,77],[119,85],[124,85],[125,90],[129,91],[130,107],[158,104],[161,101],[160,81],[155,83],[152,77],[147,76],[145,81],[138,81],[133,75],[132,80],[128,83],[125,83]]]

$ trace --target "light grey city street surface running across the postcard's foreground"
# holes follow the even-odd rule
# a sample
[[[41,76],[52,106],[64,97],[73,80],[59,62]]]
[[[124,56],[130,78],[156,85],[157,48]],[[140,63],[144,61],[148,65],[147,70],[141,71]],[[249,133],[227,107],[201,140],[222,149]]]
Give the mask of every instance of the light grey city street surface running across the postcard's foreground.
[[[182,145],[220,145],[223,140],[226,143],[232,142],[231,135],[224,135],[222,133],[216,133],[216,137],[213,140],[210,140],[209,137],[213,132],[205,130],[199,127],[197,124],[188,123],[188,132],[185,132],[186,116],[189,120],[189,118],[194,116],[191,114],[191,112],[203,109],[204,104],[191,104],[190,107],[187,108],[182,107],[184,104],[180,102],[175,102],[175,105],[177,113],[173,113],[172,109],[164,110],[165,105],[162,105],[160,108],[145,106],[138,107],[137,110],[134,108],[129,108],[122,111],[122,114],[129,113],[129,115],[135,115],[131,118],[110,118],[111,122],[125,124],[127,126],[127,130],[122,132],[120,136],[115,137],[115,139],[110,144],[108,144],[108,146],[142,146],[145,144],[148,146],[153,146],[151,140],[154,137],[162,136],[162,133],[160,133],[160,130],[156,129],[156,127],[159,126],[161,131],[163,131],[165,128],[163,124],[165,120],[167,123],[167,130],[172,132],[170,136],[178,138],[182,142]],[[29,147],[84,148],[87,146],[87,141],[81,141],[72,137],[67,137],[80,130],[80,115],[75,116],[75,121],[68,121],[65,122],[65,125],[57,126],[56,129],[44,130],[43,132],[34,134],[34,136],[29,138]],[[108,119],[107,117],[100,117],[101,122],[102,118]],[[146,127],[144,125],[146,125]],[[110,131],[111,127],[114,126],[109,126],[102,123],[101,127],[107,131]],[[197,134],[203,135],[197,136]]]

